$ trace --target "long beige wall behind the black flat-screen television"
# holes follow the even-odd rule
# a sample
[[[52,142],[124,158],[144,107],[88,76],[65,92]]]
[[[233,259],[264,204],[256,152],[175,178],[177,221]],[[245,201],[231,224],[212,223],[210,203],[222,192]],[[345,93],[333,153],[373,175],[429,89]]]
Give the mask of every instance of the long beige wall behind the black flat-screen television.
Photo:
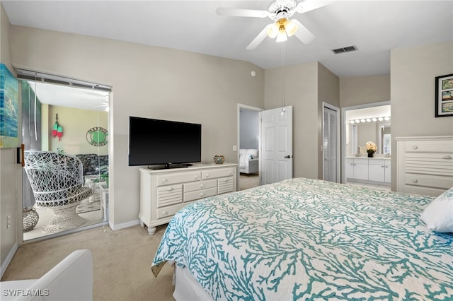
[[[112,86],[113,228],[133,225],[139,214],[139,171],[127,166],[129,116],[200,123],[202,160],[223,154],[236,163],[237,104],[263,107],[264,71],[246,61],[18,26],[11,26],[11,52],[16,66]]]

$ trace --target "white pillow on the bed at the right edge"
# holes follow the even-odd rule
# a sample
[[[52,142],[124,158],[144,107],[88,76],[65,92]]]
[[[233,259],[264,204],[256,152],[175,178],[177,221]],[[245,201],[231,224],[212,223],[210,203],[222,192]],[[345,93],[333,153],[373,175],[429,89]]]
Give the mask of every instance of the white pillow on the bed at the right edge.
[[[437,196],[421,214],[428,230],[453,232],[453,187]]]

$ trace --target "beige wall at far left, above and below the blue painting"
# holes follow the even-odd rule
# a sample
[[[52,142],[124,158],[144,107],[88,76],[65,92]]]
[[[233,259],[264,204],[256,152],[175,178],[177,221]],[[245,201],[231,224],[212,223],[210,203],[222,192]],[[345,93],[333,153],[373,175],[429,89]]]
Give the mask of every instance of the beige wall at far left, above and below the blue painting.
[[[0,5],[0,30],[0,61],[14,74],[14,70],[10,64],[10,25],[8,16],[6,16],[2,5]],[[21,179],[21,167],[16,164],[16,148],[0,148],[1,275],[6,270],[18,246],[18,218],[22,220],[22,212],[18,211],[18,198],[22,194],[21,191],[16,191],[16,187],[21,187]],[[9,228],[6,227],[7,216],[11,216],[11,227]],[[20,230],[22,232],[22,229]]]

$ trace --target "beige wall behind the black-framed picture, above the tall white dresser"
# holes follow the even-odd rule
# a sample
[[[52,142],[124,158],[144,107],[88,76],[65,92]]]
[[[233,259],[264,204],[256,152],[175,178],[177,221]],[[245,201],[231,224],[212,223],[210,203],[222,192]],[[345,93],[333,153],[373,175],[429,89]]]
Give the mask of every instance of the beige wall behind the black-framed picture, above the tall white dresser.
[[[396,137],[453,135],[453,117],[435,117],[435,77],[453,73],[453,41],[393,49],[390,63],[391,153]],[[396,179],[396,168],[391,171]],[[396,189],[396,181],[391,186]]]

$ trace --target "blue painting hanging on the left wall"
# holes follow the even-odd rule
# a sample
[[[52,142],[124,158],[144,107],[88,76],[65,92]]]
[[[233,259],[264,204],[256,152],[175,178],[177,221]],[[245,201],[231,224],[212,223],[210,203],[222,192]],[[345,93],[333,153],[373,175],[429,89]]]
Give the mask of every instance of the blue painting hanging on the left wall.
[[[0,148],[18,146],[18,80],[0,64]]]

